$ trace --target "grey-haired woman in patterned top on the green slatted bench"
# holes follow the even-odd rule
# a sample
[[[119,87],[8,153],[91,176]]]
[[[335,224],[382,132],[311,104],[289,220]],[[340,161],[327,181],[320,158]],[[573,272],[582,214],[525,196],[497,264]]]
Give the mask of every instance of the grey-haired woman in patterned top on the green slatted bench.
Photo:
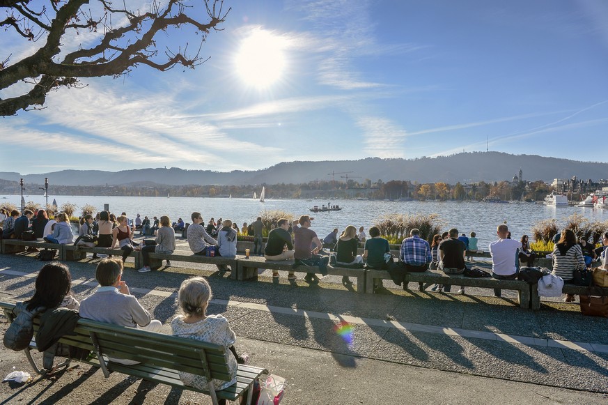
[[[178,306],[182,314],[171,321],[171,334],[201,342],[221,344],[226,348],[224,357],[228,363],[231,379],[211,381],[215,390],[224,390],[236,383],[237,363],[247,364],[249,356],[247,353],[243,353],[242,356],[237,355],[234,347],[236,335],[228,325],[228,320],[221,315],[207,314],[211,296],[211,286],[203,277],[192,277],[182,282],[178,292]],[[208,389],[208,381],[204,376],[187,372],[179,372],[179,375],[185,385],[201,390]],[[221,401],[219,403],[222,404]]]

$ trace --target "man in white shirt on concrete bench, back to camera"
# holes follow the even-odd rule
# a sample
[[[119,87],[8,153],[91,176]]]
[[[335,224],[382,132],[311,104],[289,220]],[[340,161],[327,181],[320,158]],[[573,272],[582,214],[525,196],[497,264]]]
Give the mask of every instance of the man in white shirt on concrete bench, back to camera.
[[[509,229],[506,224],[500,224],[496,233],[498,240],[490,243],[490,254],[492,255],[492,277],[499,280],[515,280],[517,277],[517,250],[521,249],[522,243],[515,239],[507,238]],[[501,295],[500,289],[494,289],[494,297]]]

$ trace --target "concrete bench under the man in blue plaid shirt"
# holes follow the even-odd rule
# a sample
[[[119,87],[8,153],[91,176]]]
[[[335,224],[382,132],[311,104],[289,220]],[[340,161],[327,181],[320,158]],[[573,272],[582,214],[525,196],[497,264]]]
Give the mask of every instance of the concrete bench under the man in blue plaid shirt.
[[[404,270],[405,272],[405,270]],[[392,280],[387,270],[368,269],[366,272],[366,292],[374,293],[377,280]],[[446,275],[441,270],[426,270],[421,273],[405,272],[405,288],[407,283],[419,282],[429,284],[451,284],[457,286],[470,286],[488,289],[515,290],[520,307],[530,306],[531,286],[522,280],[497,280],[492,277],[465,277],[464,275]],[[536,284],[535,284],[536,288]]]

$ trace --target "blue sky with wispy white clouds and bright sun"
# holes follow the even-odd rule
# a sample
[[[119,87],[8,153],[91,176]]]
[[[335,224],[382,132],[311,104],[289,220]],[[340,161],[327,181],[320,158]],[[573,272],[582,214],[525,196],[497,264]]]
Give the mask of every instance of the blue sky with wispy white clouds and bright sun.
[[[201,0],[185,3],[200,10]],[[608,162],[604,0],[226,0],[228,7],[223,30],[202,46],[187,29],[157,38],[159,57],[200,47],[209,59],[194,70],[138,66],[123,77],[82,79],[79,89],[50,93],[45,109],[0,118],[0,171],[231,171],[487,148]],[[100,33],[71,38],[66,49],[91,46]],[[1,31],[0,61],[42,43]]]

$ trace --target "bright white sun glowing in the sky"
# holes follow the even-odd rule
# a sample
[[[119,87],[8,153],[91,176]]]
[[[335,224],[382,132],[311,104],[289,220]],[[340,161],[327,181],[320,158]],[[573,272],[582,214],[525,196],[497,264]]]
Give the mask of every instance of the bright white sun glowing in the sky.
[[[283,52],[285,41],[279,37],[256,29],[242,40],[236,54],[238,75],[249,86],[265,89],[283,75],[286,58]]]

